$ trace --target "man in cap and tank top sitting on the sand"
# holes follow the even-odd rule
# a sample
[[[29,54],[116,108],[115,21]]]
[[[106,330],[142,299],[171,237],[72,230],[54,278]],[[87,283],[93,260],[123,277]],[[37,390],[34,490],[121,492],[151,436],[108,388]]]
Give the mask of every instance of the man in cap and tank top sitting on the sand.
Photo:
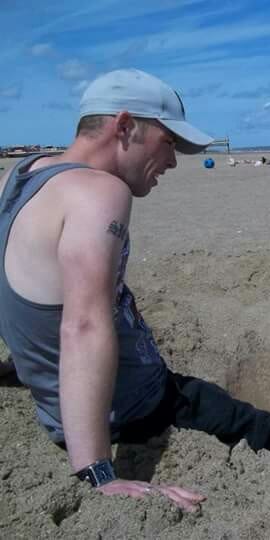
[[[268,413],[167,369],[124,284],[132,197],[176,167],[175,150],[210,142],[169,86],[118,70],[89,85],[66,152],[30,156],[3,178],[0,334],[41,424],[67,447],[78,477],[105,495],[153,489],[115,477],[111,441],[143,442],[174,424],[231,445],[267,444]],[[189,511],[204,500],[154,489]]]

